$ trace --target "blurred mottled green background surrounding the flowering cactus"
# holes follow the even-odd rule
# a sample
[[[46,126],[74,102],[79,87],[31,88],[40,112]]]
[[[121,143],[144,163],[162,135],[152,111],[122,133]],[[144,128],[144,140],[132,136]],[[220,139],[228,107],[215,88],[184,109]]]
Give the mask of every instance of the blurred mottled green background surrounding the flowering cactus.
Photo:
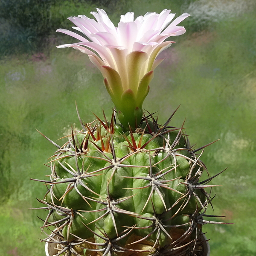
[[[255,0],[0,0],[0,255],[44,256],[40,207],[44,179],[56,141],[79,127],[92,111],[111,115],[102,75],[86,55],[58,44],[76,42],[55,33],[71,29],[69,16],[105,9],[117,25],[121,14],[172,9],[189,12],[186,34],[161,53],[144,108],[160,122],[186,118],[191,144],[205,149],[214,214],[233,225],[205,225],[211,256],[256,255],[256,2]],[[58,35],[57,35],[58,34]],[[61,143],[61,142],[58,142]],[[213,213],[208,209],[208,214]],[[38,216],[38,217],[37,217]],[[215,220],[212,218],[212,220]]]

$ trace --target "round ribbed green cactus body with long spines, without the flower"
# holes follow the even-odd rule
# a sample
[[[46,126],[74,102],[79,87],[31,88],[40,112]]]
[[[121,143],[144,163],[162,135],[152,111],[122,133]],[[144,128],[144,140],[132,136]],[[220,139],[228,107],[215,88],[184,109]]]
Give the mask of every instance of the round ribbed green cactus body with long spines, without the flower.
[[[200,158],[212,143],[194,149],[184,123],[169,126],[174,113],[164,125],[144,113],[135,131],[114,111],[110,122],[104,112],[92,123],[78,113],[82,130],[72,128],[63,146],[42,134],[58,148],[50,180],[37,180],[48,189],[37,209],[49,210],[41,229],[55,256],[202,255],[202,225],[222,224],[203,217],[223,217],[205,214],[205,189],[218,185],[207,185],[217,175]],[[200,181],[203,171],[209,177]]]

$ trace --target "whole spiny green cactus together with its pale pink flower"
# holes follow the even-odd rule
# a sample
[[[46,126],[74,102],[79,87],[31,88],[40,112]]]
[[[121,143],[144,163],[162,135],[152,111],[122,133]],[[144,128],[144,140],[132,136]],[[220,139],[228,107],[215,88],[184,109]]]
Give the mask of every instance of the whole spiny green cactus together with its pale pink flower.
[[[69,17],[84,36],[58,29],[80,41],[59,47],[89,56],[116,109],[110,120],[104,114],[91,123],[78,113],[82,130],[72,129],[63,146],[46,137],[58,148],[50,180],[38,180],[48,188],[39,199],[40,209],[49,210],[42,230],[52,230],[45,232],[47,256],[209,255],[202,225],[212,223],[203,217],[209,216],[205,189],[213,177],[200,181],[204,147],[191,147],[183,125],[170,126],[174,113],[159,125],[142,109],[162,61],[156,57],[173,43],[166,38],[185,32],[177,24],[189,14],[172,21],[175,15],[165,9],[134,20],[128,12],[115,27],[104,10],[97,11],[96,20]]]

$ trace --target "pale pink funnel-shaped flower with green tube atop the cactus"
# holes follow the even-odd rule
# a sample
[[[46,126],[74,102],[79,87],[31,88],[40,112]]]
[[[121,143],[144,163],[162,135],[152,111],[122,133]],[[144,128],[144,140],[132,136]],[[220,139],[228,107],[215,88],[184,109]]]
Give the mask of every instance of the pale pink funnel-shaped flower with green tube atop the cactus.
[[[172,21],[175,14],[170,12],[167,9],[160,14],[147,12],[135,20],[134,13],[128,12],[121,15],[115,27],[106,12],[97,9],[97,12],[91,12],[96,20],[85,15],[68,18],[76,25],[73,29],[84,36],[67,29],[57,29],[57,32],[79,40],[58,48],[79,49],[99,68],[119,121],[127,130],[129,126],[134,130],[140,123],[153,71],[163,61],[156,59],[157,55],[174,43],[165,40],[186,32],[177,24],[189,14],[183,13]]]

